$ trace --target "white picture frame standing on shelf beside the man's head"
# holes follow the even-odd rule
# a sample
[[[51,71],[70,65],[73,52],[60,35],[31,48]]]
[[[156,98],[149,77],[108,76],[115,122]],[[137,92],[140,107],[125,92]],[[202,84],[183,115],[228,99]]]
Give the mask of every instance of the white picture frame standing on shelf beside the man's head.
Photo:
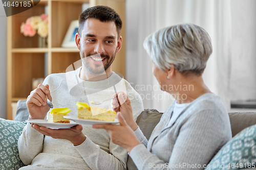
[[[66,47],[66,48],[76,47],[75,35],[76,33],[78,33],[78,27],[79,27],[78,20],[71,21],[69,29],[61,44],[61,47]]]

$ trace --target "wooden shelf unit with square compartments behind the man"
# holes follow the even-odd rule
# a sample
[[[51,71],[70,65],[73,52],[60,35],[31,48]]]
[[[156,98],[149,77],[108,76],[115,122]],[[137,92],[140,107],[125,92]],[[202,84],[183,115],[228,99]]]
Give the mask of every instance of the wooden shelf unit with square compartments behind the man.
[[[125,0],[41,0],[35,7],[7,19],[7,119],[12,116],[12,102],[26,100],[33,78],[45,78],[80,59],[77,48],[62,48],[61,43],[72,20],[78,19],[82,4],[106,5],[116,10],[123,21],[122,48],[116,54],[112,70],[125,76]],[[27,18],[45,13],[48,6],[48,47],[38,48],[38,38],[25,37],[20,26]],[[45,70],[46,69],[46,70]]]

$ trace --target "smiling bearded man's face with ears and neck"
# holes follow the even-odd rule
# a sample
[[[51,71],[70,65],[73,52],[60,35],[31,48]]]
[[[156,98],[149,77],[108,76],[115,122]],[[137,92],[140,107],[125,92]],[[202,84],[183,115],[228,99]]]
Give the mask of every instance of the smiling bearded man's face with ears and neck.
[[[81,78],[85,80],[96,75],[112,73],[111,64],[122,45],[122,22],[117,14],[113,16],[118,18],[115,22],[91,16],[94,16],[94,13],[81,14],[79,34],[76,34],[76,44],[83,61]]]

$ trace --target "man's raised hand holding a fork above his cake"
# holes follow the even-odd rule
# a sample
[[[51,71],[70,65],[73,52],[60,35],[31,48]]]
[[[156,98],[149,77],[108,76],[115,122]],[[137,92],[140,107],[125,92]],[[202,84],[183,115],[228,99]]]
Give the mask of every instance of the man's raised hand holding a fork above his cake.
[[[30,119],[45,119],[50,107],[47,105],[47,98],[52,101],[49,85],[46,86],[39,84],[36,89],[30,92],[27,98],[27,107],[30,114]]]

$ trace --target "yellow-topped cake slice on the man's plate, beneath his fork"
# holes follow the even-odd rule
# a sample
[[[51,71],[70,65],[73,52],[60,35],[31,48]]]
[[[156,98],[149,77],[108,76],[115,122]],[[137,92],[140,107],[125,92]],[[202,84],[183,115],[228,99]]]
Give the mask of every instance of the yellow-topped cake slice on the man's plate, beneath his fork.
[[[64,118],[71,110],[69,108],[55,108],[48,113],[48,123],[70,123],[70,120]]]

